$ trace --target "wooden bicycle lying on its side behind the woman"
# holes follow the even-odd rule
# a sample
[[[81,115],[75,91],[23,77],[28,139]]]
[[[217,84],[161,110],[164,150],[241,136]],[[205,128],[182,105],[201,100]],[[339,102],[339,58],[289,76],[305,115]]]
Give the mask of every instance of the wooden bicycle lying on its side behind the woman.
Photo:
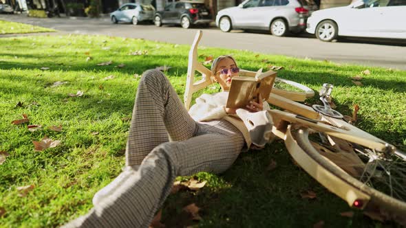
[[[193,93],[212,84],[211,71],[197,60],[198,31],[189,52],[184,105],[189,109]],[[195,71],[202,80],[194,82]],[[254,71],[240,71],[255,76]],[[267,102],[285,111],[268,111],[273,133],[283,139],[293,159],[321,185],[350,205],[364,209],[375,205],[394,217],[406,217],[406,155],[391,144],[348,124],[330,108],[332,85],[324,84],[324,106],[300,104],[314,95],[312,89],[290,80],[275,78],[303,92],[272,89]]]

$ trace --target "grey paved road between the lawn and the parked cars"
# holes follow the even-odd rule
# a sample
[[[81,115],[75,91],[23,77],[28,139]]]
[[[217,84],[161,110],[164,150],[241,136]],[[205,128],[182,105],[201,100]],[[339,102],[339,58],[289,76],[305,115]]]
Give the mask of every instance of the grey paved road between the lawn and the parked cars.
[[[35,19],[23,15],[0,15],[0,20],[51,27],[66,33],[105,34],[189,45],[197,31],[197,29],[185,30],[176,26],[155,27],[151,24],[113,25],[108,18]],[[339,63],[406,69],[406,42],[394,43],[392,41],[345,38],[338,43],[324,43],[313,38],[310,34],[280,38],[259,32],[233,31],[225,33],[218,30],[217,27],[202,30],[204,35],[200,42],[201,46],[249,49],[264,54],[281,54]]]

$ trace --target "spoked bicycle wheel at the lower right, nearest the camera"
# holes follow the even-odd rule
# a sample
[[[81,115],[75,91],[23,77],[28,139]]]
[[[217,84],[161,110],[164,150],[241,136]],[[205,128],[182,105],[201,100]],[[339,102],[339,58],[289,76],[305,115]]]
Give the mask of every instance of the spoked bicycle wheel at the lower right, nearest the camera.
[[[352,206],[363,208],[368,203],[396,214],[394,218],[405,216],[406,157],[402,152],[376,152],[303,126],[292,135],[319,166],[370,196],[369,202],[355,199]]]

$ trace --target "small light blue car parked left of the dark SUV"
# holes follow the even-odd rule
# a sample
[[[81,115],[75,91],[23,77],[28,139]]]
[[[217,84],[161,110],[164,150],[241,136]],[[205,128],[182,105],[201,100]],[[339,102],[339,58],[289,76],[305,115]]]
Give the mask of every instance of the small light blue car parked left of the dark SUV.
[[[118,23],[119,21],[138,24],[140,21],[153,21],[153,15],[155,14],[155,8],[149,4],[140,3],[127,3],[121,5],[118,10],[111,12],[110,18],[112,23]]]

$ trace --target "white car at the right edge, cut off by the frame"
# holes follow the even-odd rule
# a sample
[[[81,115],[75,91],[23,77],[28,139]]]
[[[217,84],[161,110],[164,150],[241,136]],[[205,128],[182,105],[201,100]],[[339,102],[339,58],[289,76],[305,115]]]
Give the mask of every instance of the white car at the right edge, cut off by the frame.
[[[406,39],[406,0],[359,0],[314,12],[306,31],[321,41],[338,36]]]

